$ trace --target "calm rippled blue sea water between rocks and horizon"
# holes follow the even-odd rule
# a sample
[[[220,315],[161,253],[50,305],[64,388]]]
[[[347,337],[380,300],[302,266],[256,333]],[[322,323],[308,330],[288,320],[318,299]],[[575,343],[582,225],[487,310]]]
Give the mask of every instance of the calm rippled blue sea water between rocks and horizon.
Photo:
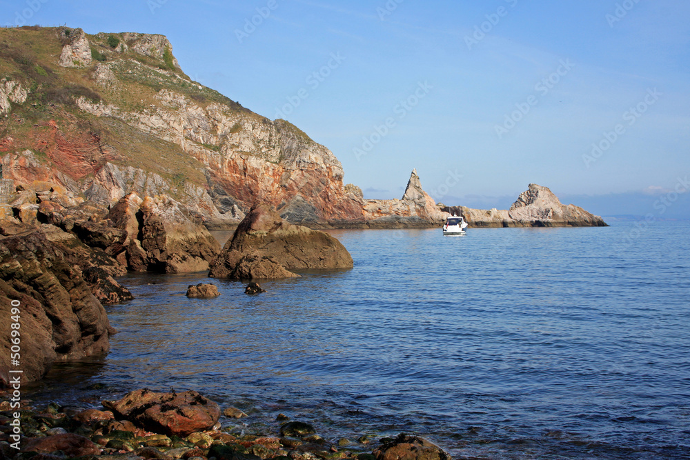
[[[57,367],[34,398],[194,389],[248,412],[226,421],[246,432],[275,434],[283,412],[331,439],[422,434],[456,459],[690,458],[689,232],[337,231],[353,270],[253,297],[128,275],[110,354]]]

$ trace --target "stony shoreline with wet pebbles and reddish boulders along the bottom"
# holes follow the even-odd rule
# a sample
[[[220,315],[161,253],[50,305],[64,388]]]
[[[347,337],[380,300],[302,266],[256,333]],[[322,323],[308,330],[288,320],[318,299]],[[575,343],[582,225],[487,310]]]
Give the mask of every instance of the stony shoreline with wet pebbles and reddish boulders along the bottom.
[[[3,395],[4,396],[4,395]],[[3,397],[3,399],[5,399]],[[10,423],[19,412],[20,450]],[[184,459],[184,460],[450,460],[444,450],[416,436],[356,440],[324,439],[304,421],[277,414],[277,432],[244,434],[233,421],[251,417],[221,408],[194,391],[135,390],[101,408],[50,403],[21,408],[0,403],[0,460]],[[15,438],[16,439],[16,438]],[[12,447],[14,445],[14,447]]]

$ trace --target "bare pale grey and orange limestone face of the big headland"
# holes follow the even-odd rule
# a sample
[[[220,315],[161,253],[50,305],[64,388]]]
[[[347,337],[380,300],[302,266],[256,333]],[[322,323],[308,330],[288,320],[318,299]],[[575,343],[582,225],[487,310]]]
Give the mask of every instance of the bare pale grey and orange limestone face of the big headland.
[[[353,219],[361,203],[346,192],[343,169],[335,155],[284,120],[270,121],[219,103],[202,107],[176,92],[161,90],[159,106],[128,112],[84,98],[77,106],[97,117],[113,117],[130,126],[177,144],[206,167],[208,191],[193,197],[203,201],[212,219],[234,206],[273,204],[290,221],[317,222]],[[112,168],[110,168],[112,169]],[[118,174],[99,173],[95,183],[118,199],[125,188]],[[131,174],[130,174],[131,175]],[[164,187],[159,181],[157,191]],[[138,188],[144,194],[150,191]],[[186,191],[190,195],[190,191]]]

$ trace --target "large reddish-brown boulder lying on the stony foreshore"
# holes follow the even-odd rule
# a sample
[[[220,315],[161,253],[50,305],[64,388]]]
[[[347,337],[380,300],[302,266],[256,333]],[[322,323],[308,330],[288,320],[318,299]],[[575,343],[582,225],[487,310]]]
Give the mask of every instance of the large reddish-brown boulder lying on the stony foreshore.
[[[179,437],[209,430],[221,413],[217,403],[192,390],[184,393],[136,390],[119,401],[103,401],[103,406],[145,430]]]

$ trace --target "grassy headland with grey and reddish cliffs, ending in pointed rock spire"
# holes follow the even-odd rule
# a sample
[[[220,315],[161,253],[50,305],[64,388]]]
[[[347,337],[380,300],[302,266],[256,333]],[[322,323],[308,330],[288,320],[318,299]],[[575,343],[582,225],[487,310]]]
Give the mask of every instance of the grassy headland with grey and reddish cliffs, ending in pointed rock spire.
[[[401,199],[364,199],[333,152],[190,79],[161,35],[6,28],[0,71],[0,162],[17,186],[54,183],[106,210],[132,192],[165,195],[208,229],[235,228],[257,203],[310,228],[437,227],[446,215],[416,171]],[[477,226],[598,224],[572,210],[462,212]]]

